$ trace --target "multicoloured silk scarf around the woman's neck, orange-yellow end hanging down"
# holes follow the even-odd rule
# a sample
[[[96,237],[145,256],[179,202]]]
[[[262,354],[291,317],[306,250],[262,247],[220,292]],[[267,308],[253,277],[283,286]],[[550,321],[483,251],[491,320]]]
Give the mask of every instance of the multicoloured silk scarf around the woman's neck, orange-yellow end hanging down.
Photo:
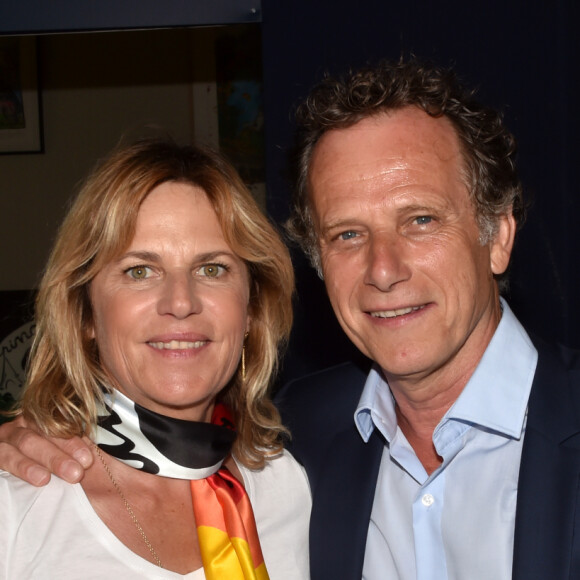
[[[223,405],[212,422],[183,421],[105,394],[94,441],[119,461],[162,477],[190,480],[207,580],[268,580],[252,506],[223,461],[236,439]]]

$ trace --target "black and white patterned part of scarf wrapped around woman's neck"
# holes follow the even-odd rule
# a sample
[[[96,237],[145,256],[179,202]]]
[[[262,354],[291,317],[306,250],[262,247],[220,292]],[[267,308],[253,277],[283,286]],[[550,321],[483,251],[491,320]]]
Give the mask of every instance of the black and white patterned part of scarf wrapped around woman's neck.
[[[164,477],[204,479],[229,455],[236,433],[213,423],[184,421],[105,393],[94,442],[123,463]]]

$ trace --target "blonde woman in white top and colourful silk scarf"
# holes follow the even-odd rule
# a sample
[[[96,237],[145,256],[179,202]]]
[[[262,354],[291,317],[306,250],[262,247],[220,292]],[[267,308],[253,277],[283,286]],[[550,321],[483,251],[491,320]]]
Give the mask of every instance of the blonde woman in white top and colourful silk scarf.
[[[49,259],[19,410],[94,461],[73,486],[2,472],[0,578],[307,578],[308,487],[267,395],[292,288],[219,156],[106,160]]]

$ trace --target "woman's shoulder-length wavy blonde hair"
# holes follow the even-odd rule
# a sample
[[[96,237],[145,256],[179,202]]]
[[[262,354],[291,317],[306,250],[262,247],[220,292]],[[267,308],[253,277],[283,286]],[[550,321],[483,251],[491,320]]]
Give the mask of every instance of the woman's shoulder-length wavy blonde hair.
[[[292,324],[294,274],[288,250],[237,172],[219,154],[147,139],[114,151],[88,178],[58,233],[36,302],[36,335],[18,412],[47,434],[89,434],[104,373],[89,335],[88,287],[129,246],[143,200],[165,182],[203,189],[250,277],[252,325],[246,377],[238,369],[219,399],[233,412],[236,457],[258,468],[280,452],[285,429],[268,391]]]

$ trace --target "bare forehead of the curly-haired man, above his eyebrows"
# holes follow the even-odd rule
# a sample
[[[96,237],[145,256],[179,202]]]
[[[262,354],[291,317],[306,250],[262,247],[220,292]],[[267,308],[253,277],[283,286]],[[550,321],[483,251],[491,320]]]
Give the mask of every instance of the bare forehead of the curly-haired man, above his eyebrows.
[[[364,198],[418,191],[445,191],[465,184],[464,160],[455,129],[416,107],[370,117],[325,134],[309,175],[314,205],[321,198]]]

